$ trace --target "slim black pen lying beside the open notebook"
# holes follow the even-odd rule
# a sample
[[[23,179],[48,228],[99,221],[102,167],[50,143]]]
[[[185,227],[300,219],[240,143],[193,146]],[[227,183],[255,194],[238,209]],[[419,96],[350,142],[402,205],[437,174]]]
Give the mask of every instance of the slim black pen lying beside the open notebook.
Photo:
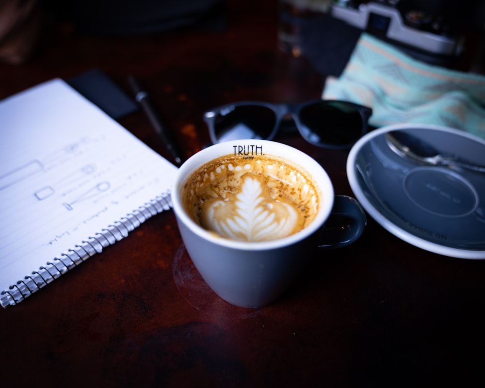
[[[131,86],[131,89],[133,90],[133,93],[135,94],[136,102],[138,102],[141,105],[142,109],[148,116],[148,119],[150,120],[151,124],[155,128],[155,131],[162,139],[162,142],[165,148],[167,149],[167,151],[169,151],[172,154],[173,158],[175,159],[175,162],[178,165],[180,165],[182,161],[178,156],[178,152],[175,147],[175,142],[171,139],[169,131],[164,128],[162,124],[162,120],[160,119],[155,108],[151,104],[150,99],[148,98],[148,93],[145,90],[143,90],[140,83],[133,76],[128,77],[128,82],[129,82],[129,85]]]

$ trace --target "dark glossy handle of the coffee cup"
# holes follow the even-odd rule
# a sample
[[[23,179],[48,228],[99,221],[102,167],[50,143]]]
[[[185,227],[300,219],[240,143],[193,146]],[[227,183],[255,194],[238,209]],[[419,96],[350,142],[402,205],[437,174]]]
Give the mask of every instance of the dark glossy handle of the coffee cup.
[[[356,241],[367,225],[362,206],[347,195],[335,195],[330,216],[321,228],[318,249],[341,248]]]

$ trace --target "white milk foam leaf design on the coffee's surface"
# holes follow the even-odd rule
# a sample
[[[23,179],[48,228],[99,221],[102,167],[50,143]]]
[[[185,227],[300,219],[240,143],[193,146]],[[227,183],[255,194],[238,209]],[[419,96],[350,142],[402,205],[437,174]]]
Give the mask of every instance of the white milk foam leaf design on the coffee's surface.
[[[290,235],[297,213],[282,202],[265,202],[261,183],[246,178],[234,202],[214,201],[205,213],[206,227],[223,237],[244,241],[275,240]]]

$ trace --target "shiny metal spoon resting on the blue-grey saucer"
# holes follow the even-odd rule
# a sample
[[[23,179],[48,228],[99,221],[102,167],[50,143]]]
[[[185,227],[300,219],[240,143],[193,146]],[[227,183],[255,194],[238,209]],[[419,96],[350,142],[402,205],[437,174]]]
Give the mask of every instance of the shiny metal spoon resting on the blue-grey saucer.
[[[390,149],[404,158],[429,165],[453,165],[467,168],[473,171],[485,172],[485,166],[462,162],[453,158],[440,155],[438,150],[429,143],[406,133],[396,130],[386,133],[386,142]]]

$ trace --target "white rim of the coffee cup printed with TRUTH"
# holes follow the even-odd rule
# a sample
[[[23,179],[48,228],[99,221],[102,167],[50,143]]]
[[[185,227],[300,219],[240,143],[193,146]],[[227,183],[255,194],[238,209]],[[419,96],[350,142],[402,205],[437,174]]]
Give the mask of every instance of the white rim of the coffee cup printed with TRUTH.
[[[296,233],[291,234],[290,236],[276,240],[262,242],[238,241],[214,235],[213,233],[204,229],[202,226],[198,225],[186,213],[181,203],[181,191],[179,190],[179,188],[183,186],[185,181],[192,175],[192,173],[206,162],[230,154],[230,150],[233,149],[234,146],[240,146],[242,144],[248,143],[258,146],[261,145],[264,147],[264,149],[269,149],[268,155],[276,156],[283,159],[288,158],[293,164],[301,166],[316,183],[320,197],[324,198],[324,200],[320,201],[319,211],[313,221],[307,227]],[[275,151],[275,149],[278,149],[278,151]],[[171,196],[173,210],[179,222],[182,222],[199,237],[216,245],[226,246],[232,249],[241,249],[245,251],[260,251],[281,248],[294,244],[295,242],[306,239],[308,236],[316,232],[321,226],[323,226],[324,222],[330,215],[330,212],[333,208],[335,194],[330,177],[320,165],[320,163],[318,163],[311,156],[307,155],[303,151],[300,151],[283,143],[278,143],[271,140],[248,139],[218,143],[196,152],[179,167],[178,173],[172,185]],[[329,198],[326,198],[326,196],[328,196]]]

